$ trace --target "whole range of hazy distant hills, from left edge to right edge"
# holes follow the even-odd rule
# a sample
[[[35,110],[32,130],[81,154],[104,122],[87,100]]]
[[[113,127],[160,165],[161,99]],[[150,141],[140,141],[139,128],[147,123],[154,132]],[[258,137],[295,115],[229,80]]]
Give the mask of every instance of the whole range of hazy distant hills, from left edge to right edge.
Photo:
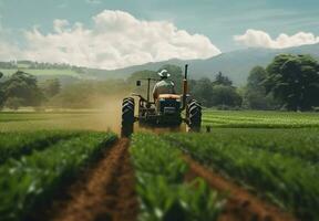
[[[107,78],[126,78],[132,73],[142,70],[157,71],[164,64],[175,64],[184,66],[189,64],[189,76],[198,80],[200,77],[213,78],[219,71],[225,75],[229,76],[236,85],[245,85],[249,71],[256,66],[266,66],[271,60],[280,53],[292,53],[292,54],[311,54],[319,59],[319,44],[302,45],[298,48],[272,50],[272,49],[245,49],[233,52],[226,52],[218,56],[214,56],[207,60],[169,60],[164,62],[146,63],[142,65],[130,66],[119,70],[99,70],[99,69],[86,69],[76,67],[70,65],[56,65],[56,64],[42,64],[41,69],[33,70],[32,63],[28,61],[20,62],[24,67],[25,72],[34,74],[39,80],[59,77],[62,81],[68,80],[68,83],[76,80],[107,80]],[[18,62],[19,63],[19,62]],[[1,63],[0,63],[1,64]],[[29,67],[28,67],[29,65]],[[31,66],[30,66],[31,65]],[[48,65],[50,69],[48,70]],[[23,69],[22,67],[22,69]],[[54,70],[59,69],[59,70]],[[4,73],[9,73],[8,70],[0,69]],[[12,72],[12,70],[10,70]],[[43,74],[41,74],[43,72]],[[50,74],[51,73],[51,74]],[[58,74],[56,74],[58,73]],[[60,74],[59,74],[60,73]]]

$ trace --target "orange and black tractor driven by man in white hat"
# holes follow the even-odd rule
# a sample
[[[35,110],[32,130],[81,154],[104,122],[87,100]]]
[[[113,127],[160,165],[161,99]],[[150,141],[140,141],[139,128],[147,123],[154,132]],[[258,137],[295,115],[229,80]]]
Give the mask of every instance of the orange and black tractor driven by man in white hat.
[[[122,103],[122,135],[130,136],[133,133],[135,122],[152,126],[179,126],[183,122],[187,124],[191,131],[199,131],[202,125],[202,106],[189,98],[187,94],[187,67],[183,80],[183,94],[160,94],[156,101],[151,101],[151,82],[158,82],[157,78],[143,78],[147,81],[147,97],[133,93],[131,97],[125,97]],[[141,86],[141,81],[136,81],[136,86]],[[134,115],[135,99],[138,102],[138,114]],[[186,109],[185,113],[183,113]]]

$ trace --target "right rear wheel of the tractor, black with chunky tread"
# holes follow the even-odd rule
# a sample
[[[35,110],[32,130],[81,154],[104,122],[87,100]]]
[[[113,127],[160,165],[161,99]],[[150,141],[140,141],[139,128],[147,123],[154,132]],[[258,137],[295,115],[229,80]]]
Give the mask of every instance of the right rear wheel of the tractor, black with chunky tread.
[[[191,131],[199,131],[202,126],[202,106],[197,101],[189,101],[187,104],[186,116]]]

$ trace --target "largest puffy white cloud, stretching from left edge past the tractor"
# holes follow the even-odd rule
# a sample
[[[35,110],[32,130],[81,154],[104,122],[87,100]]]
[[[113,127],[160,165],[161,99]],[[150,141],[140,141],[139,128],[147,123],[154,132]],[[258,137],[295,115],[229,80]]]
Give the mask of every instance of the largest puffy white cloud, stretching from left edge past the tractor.
[[[119,69],[169,59],[207,59],[220,51],[202,34],[189,34],[167,21],[144,21],[123,11],[105,10],[92,18],[93,27],[55,20],[54,31],[25,31],[27,44],[17,49],[0,40],[0,59],[70,63]],[[2,51],[3,50],[3,51]],[[10,57],[11,57],[10,56]]]

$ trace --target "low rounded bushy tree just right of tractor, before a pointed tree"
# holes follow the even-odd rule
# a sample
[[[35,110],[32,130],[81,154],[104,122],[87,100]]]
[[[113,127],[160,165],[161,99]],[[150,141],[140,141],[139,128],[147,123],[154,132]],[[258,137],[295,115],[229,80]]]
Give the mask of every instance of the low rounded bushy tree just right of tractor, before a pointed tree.
[[[212,92],[212,104],[214,106],[240,106],[241,96],[236,92],[236,88],[225,85],[216,85]]]

